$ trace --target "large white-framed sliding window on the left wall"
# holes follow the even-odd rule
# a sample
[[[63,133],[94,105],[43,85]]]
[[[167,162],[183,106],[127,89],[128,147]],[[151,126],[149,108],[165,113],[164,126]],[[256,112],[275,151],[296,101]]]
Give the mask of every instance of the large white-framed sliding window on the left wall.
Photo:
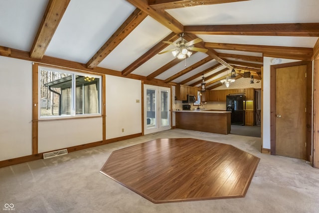
[[[39,67],[40,117],[99,115],[101,76]]]

